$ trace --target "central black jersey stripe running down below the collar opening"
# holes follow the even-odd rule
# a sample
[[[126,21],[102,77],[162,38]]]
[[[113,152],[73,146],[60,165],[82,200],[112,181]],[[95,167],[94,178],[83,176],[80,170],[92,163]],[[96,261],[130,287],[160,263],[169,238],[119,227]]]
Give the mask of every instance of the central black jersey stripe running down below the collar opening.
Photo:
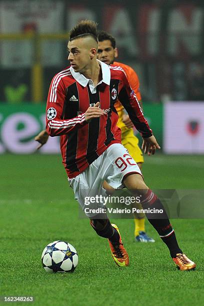
[[[97,103],[98,101],[100,101],[99,86],[96,87],[96,93],[91,93],[89,85],[87,85],[86,88],[88,90],[89,104]],[[97,149],[99,128],[100,128],[100,118],[93,118],[88,123],[88,143],[86,150],[86,159],[88,164],[91,164],[98,157],[96,149]]]

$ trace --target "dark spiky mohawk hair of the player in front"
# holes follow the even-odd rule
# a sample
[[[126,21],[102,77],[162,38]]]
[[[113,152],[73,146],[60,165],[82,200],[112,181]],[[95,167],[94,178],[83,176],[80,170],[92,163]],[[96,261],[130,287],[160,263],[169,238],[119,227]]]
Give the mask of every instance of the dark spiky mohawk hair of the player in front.
[[[96,22],[92,20],[80,20],[69,32],[70,41],[85,36],[91,36],[96,42],[98,42]]]

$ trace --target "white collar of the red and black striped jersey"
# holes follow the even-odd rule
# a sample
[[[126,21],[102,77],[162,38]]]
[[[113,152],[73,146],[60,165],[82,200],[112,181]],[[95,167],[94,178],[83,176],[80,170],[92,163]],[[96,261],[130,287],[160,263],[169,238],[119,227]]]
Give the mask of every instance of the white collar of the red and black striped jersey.
[[[110,84],[110,68],[108,67],[108,65],[100,60],[98,60],[98,63],[101,67],[102,70],[102,80],[99,82],[104,82],[105,84],[109,85]],[[75,72],[73,70],[73,68],[70,66],[70,72],[71,75],[73,76],[73,78],[75,78],[75,80],[82,85],[83,87],[87,86],[87,83],[90,79],[86,78],[82,73],[80,72]]]

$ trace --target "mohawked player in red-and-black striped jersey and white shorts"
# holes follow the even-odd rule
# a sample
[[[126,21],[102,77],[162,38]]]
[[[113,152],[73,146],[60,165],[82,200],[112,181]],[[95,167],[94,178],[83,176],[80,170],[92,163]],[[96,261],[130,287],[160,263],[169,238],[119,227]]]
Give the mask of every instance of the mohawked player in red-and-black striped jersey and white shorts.
[[[160,209],[146,213],[152,226],[167,245],[175,264],[181,270],[195,268],[179,248],[175,233],[162,203],[144,183],[141,171],[121,144],[118,114],[114,103],[118,97],[130,120],[141,133],[144,153],[154,154],[160,148],[143,117],[134,91],[119,66],[108,66],[96,59],[98,40],[96,24],[81,20],[70,31],[67,44],[70,66],[57,73],[50,84],[46,106],[46,130],[60,136],[62,162],[79,202],[96,233],[108,239],[115,263],[129,263],[118,227],[111,224],[106,212],[97,213],[85,205],[87,198],[104,194],[103,181],[113,188],[122,185],[140,196],[143,208]],[[97,208],[103,202],[95,200]],[[94,206],[95,207],[95,206]],[[156,218],[152,218],[156,217]]]

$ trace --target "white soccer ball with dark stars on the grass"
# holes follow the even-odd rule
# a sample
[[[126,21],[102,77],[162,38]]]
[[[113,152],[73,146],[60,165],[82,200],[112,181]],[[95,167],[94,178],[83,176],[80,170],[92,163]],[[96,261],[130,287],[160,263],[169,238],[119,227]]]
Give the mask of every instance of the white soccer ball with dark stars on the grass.
[[[70,243],[56,240],[45,246],[41,260],[46,272],[73,272],[78,254]]]

